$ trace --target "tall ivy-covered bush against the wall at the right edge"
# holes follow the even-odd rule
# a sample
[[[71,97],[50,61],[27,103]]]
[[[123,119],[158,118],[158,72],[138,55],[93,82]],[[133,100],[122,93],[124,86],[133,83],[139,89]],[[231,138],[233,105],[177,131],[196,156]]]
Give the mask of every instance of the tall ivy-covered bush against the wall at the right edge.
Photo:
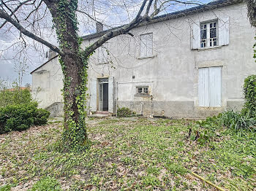
[[[242,114],[249,114],[249,117],[256,117],[256,75],[244,79],[244,109]]]

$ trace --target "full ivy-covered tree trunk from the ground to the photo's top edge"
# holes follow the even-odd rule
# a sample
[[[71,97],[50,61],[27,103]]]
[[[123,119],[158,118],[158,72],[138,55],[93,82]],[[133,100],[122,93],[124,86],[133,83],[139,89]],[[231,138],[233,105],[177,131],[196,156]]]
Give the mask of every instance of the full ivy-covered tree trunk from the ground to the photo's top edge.
[[[59,40],[61,69],[64,74],[64,131],[61,147],[87,147],[86,82],[87,57],[80,48],[76,9],[77,0],[44,0],[47,4]]]

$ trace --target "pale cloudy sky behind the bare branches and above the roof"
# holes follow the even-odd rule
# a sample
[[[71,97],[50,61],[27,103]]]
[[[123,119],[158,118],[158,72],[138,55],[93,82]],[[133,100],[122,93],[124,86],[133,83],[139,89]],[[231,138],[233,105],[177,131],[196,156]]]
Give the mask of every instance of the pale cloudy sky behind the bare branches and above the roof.
[[[200,3],[206,3],[208,1],[210,0],[203,0],[200,1]],[[83,0],[81,0],[80,3],[81,2],[83,2]],[[110,0],[111,4],[107,4],[106,2],[108,1],[98,0],[99,4],[96,12],[94,12],[94,10],[92,10],[91,6],[88,4],[80,4],[80,9],[88,12],[90,15],[94,15],[94,17],[97,17],[97,20],[105,23],[106,29],[108,28],[107,26],[119,26],[121,24],[128,23],[133,19],[135,13],[138,12],[140,7],[138,4],[136,5],[130,3],[132,6],[126,5],[124,7],[116,8],[119,6],[118,4],[120,1]],[[131,2],[134,3],[135,1],[131,0]],[[195,2],[198,3],[199,1]],[[113,7],[115,8],[113,9]],[[175,12],[179,9],[184,9],[187,7],[188,6],[181,7],[173,5],[173,7],[168,7],[168,9],[166,9],[160,15],[167,12]],[[92,14],[92,12],[95,14]],[[39,23],[39,33],[44,34],[44,39],[47,39],[53,44],[57,44],[55,31],[53,31],[51,27],[52,23],[50,15],[46,15],[45,20],[46,21],[43,21],[44,23]],[[95,22],[93,20],[79,14],[78,20],[80,36],[95,32]],[[1,23],[3,23],[2,20],[0,20],[0,25]],[[26,36],[23,37],[26,45],[21,43],[23,40],[20,39],[20,34],[15,28],[10,26],[10,24],[7,24],[4,28],[0,29],[0,78],[7,79],[10,82],[18,79],[18,67],[20,66],[20,63],[25,63],[26,67],[24,67],[25,74],[23,77],[23,85],[26,85],[26,83],[31,84],[32,77],[30,72],[47,61],[47,58],[45,58],[45,52],[48,51],[48,48],[43,47],[42,44],[34,42]]]

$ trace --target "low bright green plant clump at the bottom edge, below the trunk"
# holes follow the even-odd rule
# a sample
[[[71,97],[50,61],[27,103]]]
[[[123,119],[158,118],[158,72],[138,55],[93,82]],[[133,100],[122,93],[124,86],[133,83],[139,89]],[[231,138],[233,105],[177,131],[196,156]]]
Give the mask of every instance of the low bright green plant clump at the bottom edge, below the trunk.
[[[59,191],[61,190],[61,186],[59,182],[55,178],[52,178],[50,176],[47,176],[44,179],[40,179],[37,181],[33,187],[31,188],[31,191],[50,191],[55,190]]]

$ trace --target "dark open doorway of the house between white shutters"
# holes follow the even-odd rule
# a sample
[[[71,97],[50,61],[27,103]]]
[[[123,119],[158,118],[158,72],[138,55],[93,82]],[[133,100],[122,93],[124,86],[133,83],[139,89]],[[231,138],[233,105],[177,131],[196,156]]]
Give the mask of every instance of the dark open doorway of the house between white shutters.
[[[99,112],[108,112],[108,78],[99,79]]]

